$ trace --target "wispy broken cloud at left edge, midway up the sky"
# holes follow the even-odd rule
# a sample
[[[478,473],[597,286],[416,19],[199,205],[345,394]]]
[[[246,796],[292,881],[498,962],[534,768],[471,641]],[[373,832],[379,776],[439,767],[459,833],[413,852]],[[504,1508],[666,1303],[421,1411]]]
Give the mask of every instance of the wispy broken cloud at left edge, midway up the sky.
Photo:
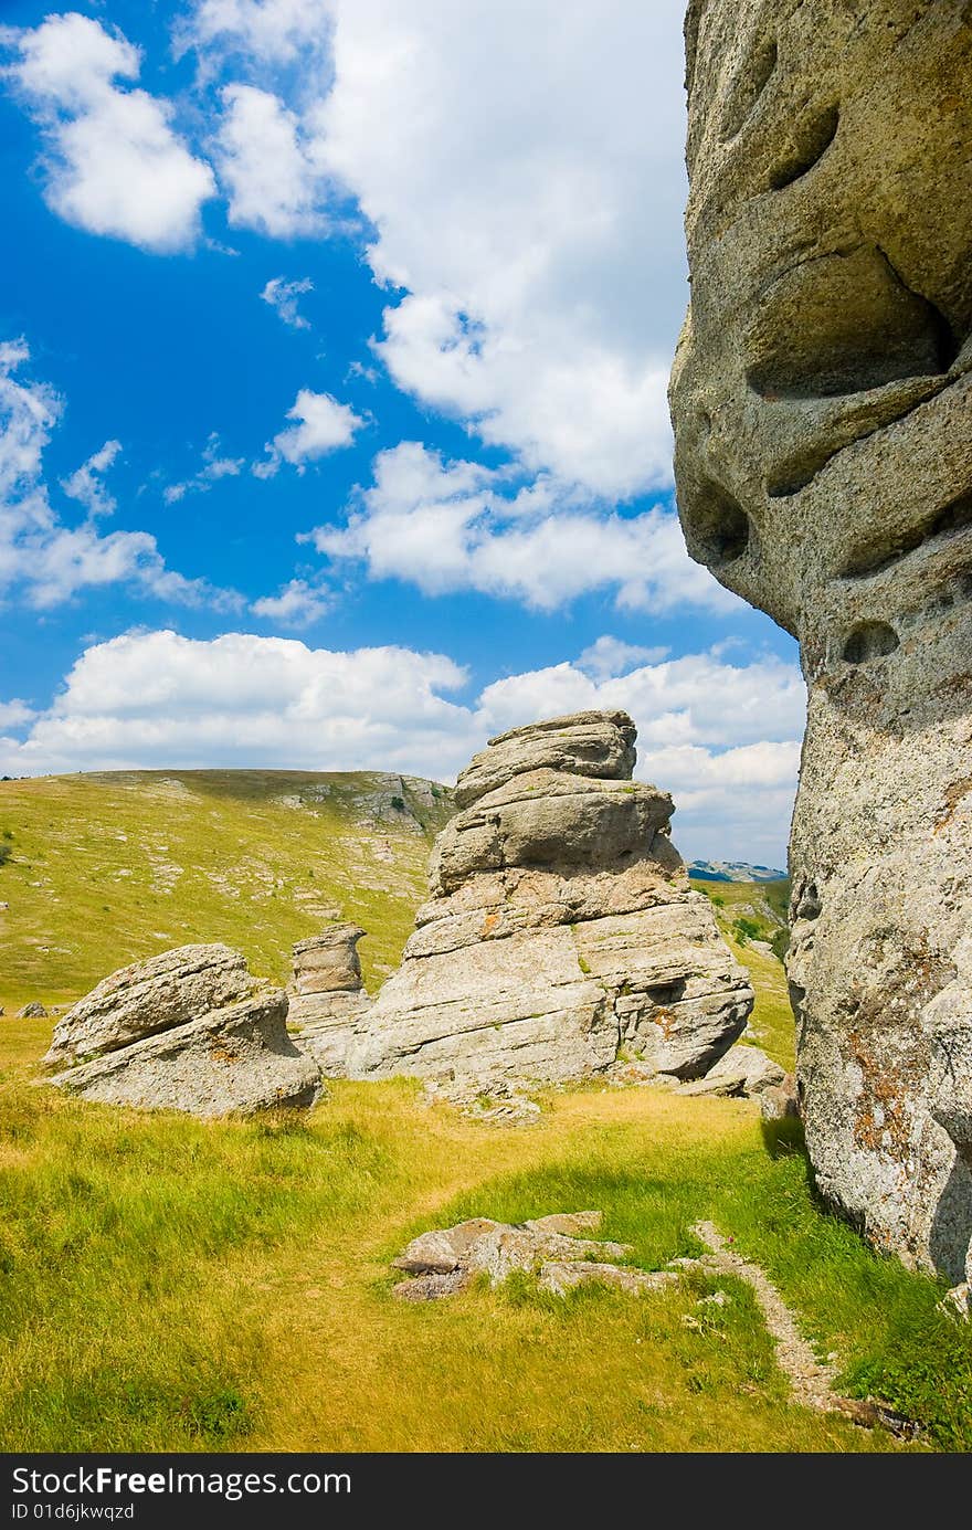
[[[98,529],[98,516],[113,508],[98,474],[113,462],[118,442],[106,442],[66,479],[87,519],[75,526],[61,520],[43,476],[43,453],[63,401],[47,384],[21,379],[28,361],[24,341],[0,343],[0,598],[17,591],[29,606],[47,609],[80,589],[127,583],[161,600],[231,607],[231,594],[168,569],[150,532]]]

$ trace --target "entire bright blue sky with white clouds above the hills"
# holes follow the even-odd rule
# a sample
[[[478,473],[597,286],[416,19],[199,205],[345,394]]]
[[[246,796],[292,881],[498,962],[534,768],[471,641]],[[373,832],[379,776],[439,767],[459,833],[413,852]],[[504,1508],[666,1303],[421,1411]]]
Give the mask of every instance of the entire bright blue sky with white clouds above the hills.
[[[782,863],[791,640],[684,554],[681,3],[0,12],[0,771],[448,779],[586,705]]]

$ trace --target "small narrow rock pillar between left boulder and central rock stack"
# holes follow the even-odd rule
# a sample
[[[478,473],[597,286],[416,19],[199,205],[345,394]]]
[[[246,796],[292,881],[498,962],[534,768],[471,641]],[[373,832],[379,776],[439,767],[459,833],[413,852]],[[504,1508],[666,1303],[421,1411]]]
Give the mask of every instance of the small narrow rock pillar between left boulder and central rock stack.
[[[321,1073],[346,1071],[347,1039],[370,1004],[361,979],[357,924],[334,924],[294,946],[289,1030]]]

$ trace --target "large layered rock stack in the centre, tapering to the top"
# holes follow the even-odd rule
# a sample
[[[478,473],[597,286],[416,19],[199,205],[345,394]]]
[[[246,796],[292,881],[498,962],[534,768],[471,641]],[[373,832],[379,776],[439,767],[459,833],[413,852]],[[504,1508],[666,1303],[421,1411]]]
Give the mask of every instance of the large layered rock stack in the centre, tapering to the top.
[[[670,797],[631,780],[634,741],[631,718],[595,711],[476,756],[352,1076],[559,1082],[628,1056],[692,1079],[727,1050],[753,993],[689,889]]]

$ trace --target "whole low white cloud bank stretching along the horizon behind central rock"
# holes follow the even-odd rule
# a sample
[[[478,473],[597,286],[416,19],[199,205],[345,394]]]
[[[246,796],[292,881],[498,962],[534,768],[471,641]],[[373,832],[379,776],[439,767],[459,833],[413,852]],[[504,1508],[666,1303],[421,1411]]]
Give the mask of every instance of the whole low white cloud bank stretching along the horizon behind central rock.
[[[683,855],[782,864],[804,725],[794,667],[696,653],[603,681],[559,664],[467,692],[465,670],[442,653],[129,633],[87,649],[52,708],[21,719],[26,736],[0,744],[0,773],[165,763],[442,780],[493,733],[623,707],[638,725],[637,777],[675,797]]]

